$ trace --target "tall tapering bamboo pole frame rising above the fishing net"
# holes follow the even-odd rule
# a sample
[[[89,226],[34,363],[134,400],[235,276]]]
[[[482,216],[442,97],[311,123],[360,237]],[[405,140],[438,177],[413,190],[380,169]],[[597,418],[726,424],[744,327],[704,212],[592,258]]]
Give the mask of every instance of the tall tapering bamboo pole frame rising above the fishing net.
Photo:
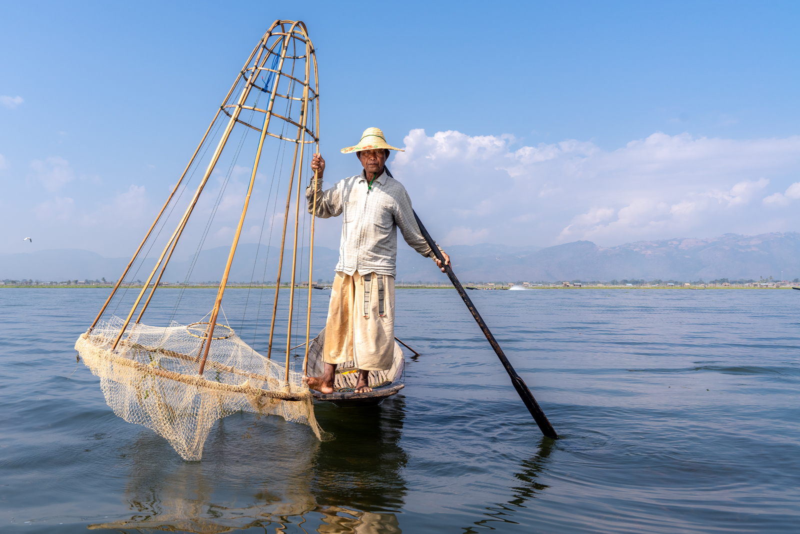
[[[298,43],[302,43],[298,46]],[[293,50],[290,53],[290,46],[292,46]],[[298,48],[305,48],[304,53],[298,54]],[[266,62],[272,58],[274,62],[267,66]],[[290,70],[286,69],[286,60],[289,59],[291,63]],[[295,62],[296,61],[304,61],[304,80],[300,79],[299,74],[295,74]],[[276,64],[277,62],[277,64]],[[277,68],[276,68],[277,67]],[[285,71],[286,70],[286,71]],[[313,70],[313,80],[312,71]],[[271,78],[268,78],[265,83],[262,83],[262,86],[259,86],[256,82],[257,76],[260,73],[269,74]],[[271,89],[269,88],[270,79],[272,83]],[[281,82],[289,82],[289,86],[286,86],[286,94],[282,94],[278,92],[278,88]],[[298,87],[298,84],[302,86],[302,96],[300,98],[295,97],[294,90]],[[292,88],[294,85],[294,89]],[[238,88],[241,89],[238,89]],[[236,91],[239,91],[236,94]],[[258,102],[250,104],[250,94],[252,90],[260,90],[262,92],[268,92],[270,95],[270,100],[267,106],[257,106]],[[274,102],[275,98],[285,98],[287,101],[287,106],[290,106],[289,102],[299,101],[301,102],[301,111],[300,111],[300,118],[292,118],[291,113],[289,112],[289,108],[287,108],[286,116],[282,114],[276,113],[274,110]],[[309,124],[309,112],[311,110],[311,106],[314,106],[314,122]],[[266,108],[266,109],[262,109]],[[234,255],[236,253],[239,240],[242,235],[242,227],[245,223],[246,215],[248,208],[250,207],[250,199],[254,192],[255,180],[256,175],[258,173],[258,165],[262,159],[262,151],[265,147],[265,140],[266,137],[269,135],[272,138],[277,138],[281,140],[281,142],[293,142],[294,143],[294,155],[292,158],[292,167],[290,172],[290,180],[289,180],[289,187],[286,195],[286,209],[284,210],[284,221],[283,221],[283,228],[282,228],[282,239],[281,239],[281,251],[278,260],[278,276],[276,280],[276,288],[275,288],[275,301],[273,307],[273,317],[272,322],[270,324],[270,353],[271,348],[273,345],[274,340],[274,328],[276,323],[276,312],[277,312],[277,304],[278,304],[278,292],[280,290],[280,283],[281,283],[281,272],[284,262],[284,250],[286,247],[286,230],[289,226],[289,211],[291,207],[291,202],[296,202],[295,205],[295,212],[294,212],[294,247],[293,247],[293,256],[292,256],[292,274],[291,274],[291,283],[290,283],[290,306],[289,306],[289,320],[288,320],[288,330],[287,330],[287,339],[286,339],[286,375],[284,376],[284,382],[288,383],[288,375],[289,375],[289,359],[290,359],[290,342],[291,342],[291,332],[293,327],[293,309],[294,309],[294,286],[296,285],[297,275],[298,275],[298,265],[297,265],[297,255],[298,255],[298,233],[299,233],[299,225],[300,225],[300,203],[305,203],[305,198],[301,197],[301,183],[302,183],[302,175],[303,175],[303,168],[304,168],[304,158],[306,157],[306,144],[308,143],[315,143],[316,153],[319,153],[319,139],[318,139],[318,130],[319,130],[319,92],[318,92],[318,70],[317,70],[317,58],[316,54],[314,53],[314,46],[308,38],[308,33],[306,29],[306,25],[303,22],[294,22],[294,21],[282,21],[277,20],[271,26],[270,29],[266,31],[266,34],[263,35],[262,39],[258,42],[258,45],[253,49],[250,53],[247,61],[245,62],[242,69],[239,70],[236,79],[232,86],[230,86],[230,90],[228,90],[225,99],[222,101],[222,105],[217,110],[216,114],[214,115],[214,120],[211,121],[210,126],[206,130],[205,135],[203,135],[198,147],[195,149],[194,154],[191,156],[189,163],[186,165],[186,169],[183,171],[181,178],[176,183],[175,187],[171,191],[169,197],[166,199],[166,203],[164,203],[161,211],[159,211],[158,216],[155,218],[153,224],[150,226],[150,229],[147,231],[144,239],[142,239],[142,243],[139,244],[137,250],[135,251],[133,257],[130,259],[130,263],[128,263],[125,271],[123,271],[122,276],[118,280],[117,284],[115,285],[114,289],[111,291],[108,299],[106,299],[106,303],[103,304],[100,312],[97,315],[97,318],[94,319],[89,331],[91,331],[102,318],[102,315],[105,313],[108,305],[110,304],[111,300],[113,299],[116,291],[118,288],[121,287],[122,281],[125,279],[126,275],[128,275],[130,268],[134,265],[136,259],[140,257],[142,254],[142,250],[148,240],[153,237],[153,233],[155,228],[158,226],[159,221],[163,220],[163,216],[167,212],[167,208],[170,204],[174,204],[177,202],[175,199],[175,195],[178,192],[178,189],[181,187],[182,183],[185,183],[186,176],[188,175],[190,169],[193,165],[198,161],[198,155],[201,153],[202,147],[206,146],[206,143],[210,139],[210,134],[215,128],[215,124],[218,124],[218,120],[222,117],[221,114],[225,114],[228,118],[225,124],[224,129],[222,130],[222,134],[220,135],[217,145],[214,148],[213,154],[210,156],[210,160],[207,164],[205,171],[202,174],[202,179],[200,183],[196,187],[194,191],[194,195],[190,199],[185,211],[182,214],[181,219],[178,221],[177,227],[175,227],[172,234],[169,236],[169,239],[166,240],[166,244],[163,246],[160,255],[152,269],[150,271],[150,275],[146,279],[146,283],[144,283],[142,290],[138,292],[136,299],[132,307],[130,307],[130,311],[126,316],[122,327],[118,331],[114,342],[110,345],[110,351],[115,351],[116,348],[120,343],[125,345],[129,343],[129,341],[123,340],[123,336],[126,334],[128,327],[130,326],[131,319],[133,319],[134,314],[136,311],[139,310],[140,304],[142,304],[142,300],[144,300],[142,304],[142,308],[138,313],[138,316],[135,319],[135,323],[139,323],[142,320],[142,316],[144,315],[145,311],[150,305],[151,300],[153,299],[154,293],[158,288],[158,284],[161,282],[161,279],[166,271],[167,265],[170,263],[170,259],[172,259],[174,251],[178,246],[178,241],[184,233],[186,229],[187,223],[189,223],[190,217],[194,212],[194,208],[198,205],[198,200],[200,195],[203,191],[205,191],[206,185],[210,179],[210,176],[214,172],[214,168],[217,166],[217,163],[220,160],[222,152],[225,150],[226,145],[230,139],[230,135],[234,130],[234,126],[237,124],[242,124],[249,128],[253,128],[259,131],[259,139],[258,139],[258,149],[255,153],[254,163],[252,167],[252,171],[250,173],[250,181],[248,184],[246,197],[244,200],[244,205],[242,207],[242,212],[238,218],[238,226],[236,227],[236,231],[234,233],[234,239],[232,240],[230,246],[230,252],[228,254],[228,258],[226,261],[225,270],[222,274],[222,281],[217,291],[217,295],[214,299],[214,306],[210,311],[210,320],[208,323],[208,327],[206,329],[205,335],[203,335],[203,342],[200,347],[200,351],[196,356],[193,357],[194,361],[198,362],[198,377],[202,376],[202,373],[206,367],[206,359],[208,358],[210,352],[210,345],[213,343],[214,340],[214,327],[218,320],[219,311],[222,309],[222,298],[226,290],[226,284],[230,276],[231,266],[233,264]],[[253,124],[250,124],[252,119],[247,118],[245,119],[242,117],[242,112],[251,112],[251,113],[263,113],[264,119],[262,122],[262,127],[257,128]],[[280,134],[275,132],[270,132],[270,123],[275,122],[272,120],[275,118],[279,122],[285,122],[287,125],[292,125],[297,127],[297,135],[295,139],[289,139],[288,135],[283,135],[283,131]],[[224,118],[223,118],[224,119]],[[241,127],[241,126],[240,126]],[[295,173],[297,176],[295,176]],[[296,180],[296,183],[295,183]],[[316,195],[316,184],[318,180],[318,174],[314,173],[314,211],[316,210],[317,205],[317,195]],[[311,280],[313,279],[312,269],[313,269],[313,262],[314,262],[314,219],[315,216],[312,214],[311,220],[311,237],[310,237],[310,263],[309,263],[309,295],[308,295],[308,303],[307,303],[307,310],[306,310],[306,347],[307,341],[310,336],[310,302],[311,302]],[[152,289],[150,290],[150,294],[146,296],[148,288],[152,283]],[[307,349],[306,349],[306,359],[303,362],[303,372],[306,371],[307,365]],[[213,362],[212,362],[213,363]]]

